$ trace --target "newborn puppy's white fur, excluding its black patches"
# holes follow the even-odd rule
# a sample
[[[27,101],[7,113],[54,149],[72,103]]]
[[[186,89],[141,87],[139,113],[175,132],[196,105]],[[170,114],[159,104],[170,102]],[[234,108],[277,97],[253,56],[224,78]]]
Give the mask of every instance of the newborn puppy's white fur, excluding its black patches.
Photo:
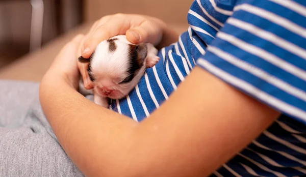
[[[94,102],[104,107],[108,107],[108,98],[104,95],[99,94],[101,89],[98,87],[107,87],[110,90],[116,91],[118,94],[108,96],[111,99],[120,99],[129,94],[133,88],[137,85],[140,78],[145,72],[146,68],[155,66],[160,60],[157,56],[158,50],[154,45],[146,43],[147,56],[144,60],[144,65],[139,69],[136,76],[129,83],[118,84],[127,75],[126,71],[129,69],[129,60],[127,59],[129,41],[126,40],[124,35],[115,36],[116,50],[109,51],[109,42],[103,41],[97,47],[91,58],[91,74],[94,76],[95,81],[93,82],[93,94]],[[84,86],[80,86],[84,87]],[[84,93],[84,92],[83,92]]]

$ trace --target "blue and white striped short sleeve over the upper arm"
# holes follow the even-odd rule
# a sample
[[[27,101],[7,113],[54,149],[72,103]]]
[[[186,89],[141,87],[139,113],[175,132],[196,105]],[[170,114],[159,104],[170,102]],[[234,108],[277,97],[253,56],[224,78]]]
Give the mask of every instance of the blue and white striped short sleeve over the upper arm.
[[[306,1],[242,0],[197,65],[306,123]]]

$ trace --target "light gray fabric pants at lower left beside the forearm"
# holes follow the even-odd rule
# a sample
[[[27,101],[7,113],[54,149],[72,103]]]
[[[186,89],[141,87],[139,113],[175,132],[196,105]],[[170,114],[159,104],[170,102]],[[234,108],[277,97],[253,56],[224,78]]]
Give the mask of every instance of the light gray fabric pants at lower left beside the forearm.
[[[0,80],[0,176],[84,176],[39,104],[39,83]]]

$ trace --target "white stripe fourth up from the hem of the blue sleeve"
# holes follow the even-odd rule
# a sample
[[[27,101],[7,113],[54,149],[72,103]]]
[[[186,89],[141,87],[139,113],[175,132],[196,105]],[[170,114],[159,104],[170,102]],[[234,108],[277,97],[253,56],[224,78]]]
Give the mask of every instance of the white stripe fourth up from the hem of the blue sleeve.
[[[283,38],[281,37],[278,37],[277,35],[274,35],[273,33],[271,32],[268,32],[268,31],[265,31],[265,30],[262,30],[261,28],[253,25],[253,24],[250,24],[250,23],[247,23],[245,21],[241,21],[241,20],[238,20],[238,19],[235,19],[235,18],[229,18],[227,20],[227,23],[230,23],[234,26],[237,26],[245,31],[248,31],[250,33],[252,33],[253,35],[256,35],[260,38],[263,38],[267,41],[270,41],[271,43],[279,46],[279,47],[282,47],[283,49],[285,50],[288,50],[289,52],[303,58],[304,60],[306,60],[306,50],[289,42],[289,41],[286,41],[284,40]]]

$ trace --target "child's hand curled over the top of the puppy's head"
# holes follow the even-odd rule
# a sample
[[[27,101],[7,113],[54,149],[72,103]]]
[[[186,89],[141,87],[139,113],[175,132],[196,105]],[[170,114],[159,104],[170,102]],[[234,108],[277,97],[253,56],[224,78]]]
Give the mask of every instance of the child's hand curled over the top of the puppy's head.
[[[108,15],[97,20],[91,27],[83,41],[82,56],[89,58],[101,41],[124,34],[131,43],[149,42],[158,46],[158,48],[177,41],[179,37],[166,23],[154,17],[136,14]],[[78,67],[83,77],[85,88],[92,88],[92,83],[87,73],[88,64],[78,62]]]

